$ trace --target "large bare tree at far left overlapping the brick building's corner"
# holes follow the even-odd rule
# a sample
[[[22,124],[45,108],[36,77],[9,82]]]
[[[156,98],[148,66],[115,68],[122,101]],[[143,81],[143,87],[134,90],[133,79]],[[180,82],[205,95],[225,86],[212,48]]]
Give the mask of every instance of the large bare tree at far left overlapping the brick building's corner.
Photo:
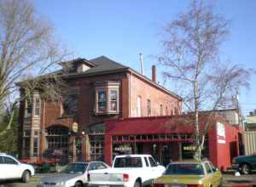
[[[39,16],[29,1],[0,1],[1,109],[13,109],[35,89],[47,97],[58,95],[56,85],[61,79],[49,71],[55,70],[55,64],[67,53],[56,42],[53,31],[49,21]],[[17,95],[20,88],[26,90],[21,97]],[[9,125],[13,115],[9,115]]]

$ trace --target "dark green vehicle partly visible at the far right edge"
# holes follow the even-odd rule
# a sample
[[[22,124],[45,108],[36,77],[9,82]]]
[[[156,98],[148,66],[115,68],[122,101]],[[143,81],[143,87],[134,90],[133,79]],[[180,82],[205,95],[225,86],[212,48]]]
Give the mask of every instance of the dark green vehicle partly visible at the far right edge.
[[[243,174],[249,174],[256,170],[256,153],[250,156],[237,156],[232,160],[232,168]]]

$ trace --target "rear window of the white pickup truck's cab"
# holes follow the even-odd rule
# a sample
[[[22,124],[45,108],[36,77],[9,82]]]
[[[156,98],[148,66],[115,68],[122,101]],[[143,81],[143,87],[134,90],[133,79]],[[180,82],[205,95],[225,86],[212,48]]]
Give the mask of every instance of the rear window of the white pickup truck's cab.
[[[140,157],[119,157],[114,161],[113,167],[143,167]]]

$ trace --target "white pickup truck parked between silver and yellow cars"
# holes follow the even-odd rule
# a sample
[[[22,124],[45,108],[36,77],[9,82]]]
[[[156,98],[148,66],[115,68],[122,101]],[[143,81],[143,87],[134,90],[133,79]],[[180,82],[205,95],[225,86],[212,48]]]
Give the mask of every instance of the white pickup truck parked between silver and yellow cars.
[[[150,155],[115,156],[108,169],[90,171],[89,187],[142,187],[165,172]]]

